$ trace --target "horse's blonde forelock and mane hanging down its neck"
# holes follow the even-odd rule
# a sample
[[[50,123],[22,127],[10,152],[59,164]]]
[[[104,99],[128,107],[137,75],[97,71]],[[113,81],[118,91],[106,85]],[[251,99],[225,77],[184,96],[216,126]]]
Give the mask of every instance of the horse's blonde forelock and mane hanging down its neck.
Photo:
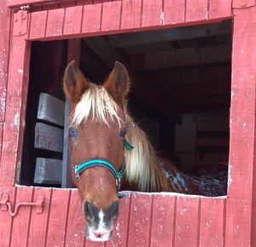
[[[119,106],[113,101],[107,89],[91,83],[90,88],[85,91],[75,108],[73,124],[81,124],[90,114],[94,119],[105,124],[108,124],[109,119],[116,119],[120,124],[122,120],[118,116],[118,108]],[[126,112],[126,104],[124,111]],[[160,168],[159,158],[148,141],[148,136],[134,123],[128,113],[126,113],[125,120],[128,124],[125,138],[132,146],[135,146],[132,151],[125,149],[127,181],[137,184],[138,189],[143,192],[170,191],[169,181]]]

